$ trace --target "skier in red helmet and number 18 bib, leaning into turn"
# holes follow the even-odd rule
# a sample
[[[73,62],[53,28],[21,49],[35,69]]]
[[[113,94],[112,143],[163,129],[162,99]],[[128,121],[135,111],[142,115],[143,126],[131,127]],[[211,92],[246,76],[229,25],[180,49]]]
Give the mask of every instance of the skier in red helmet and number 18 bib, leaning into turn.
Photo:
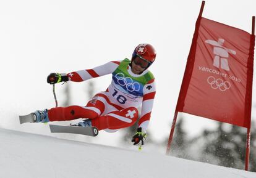
[[[137,108],[142,105],[139,127],[132,142],[134,145],[140,142],[143,145],[156,93],[155,78],[148,70],[155,58],[153,46],[139,44],[132,54],[132,60],[111,61],[99,67],[67,74],[51,73],[47,78],[49,84],[81,82],[110,73],[112,81],[106,91],[96,94],[85,107],[72,105],[35,111],[35,123],[86,118],[76,126],[95,126],[99,131],[115,132],[132,126],[139,118]]]

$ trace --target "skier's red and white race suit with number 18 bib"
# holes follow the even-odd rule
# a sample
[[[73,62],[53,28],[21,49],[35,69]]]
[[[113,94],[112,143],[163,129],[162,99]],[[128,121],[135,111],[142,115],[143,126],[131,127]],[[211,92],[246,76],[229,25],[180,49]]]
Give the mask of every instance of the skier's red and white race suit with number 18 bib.
[[[114,132],[132,126],[139,118],[139,127],[146,131],[155,97],[155,78],[149,70],[132,73],[130,60],[108,62],[99,67],[68,73],[69,81],[82,82],[112,74],[106,91],[96,94],[86,106],[73,105],[48,110],[49,121],[77,118],[92,119],[92,126]],[[139,116],[137,108],[142,106]]]

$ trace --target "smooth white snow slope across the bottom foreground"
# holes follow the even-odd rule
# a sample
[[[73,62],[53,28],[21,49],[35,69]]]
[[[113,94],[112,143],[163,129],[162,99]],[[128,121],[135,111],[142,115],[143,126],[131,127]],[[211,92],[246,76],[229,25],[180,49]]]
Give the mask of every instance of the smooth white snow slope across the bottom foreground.
[[[3,178],[255,178],[255,172],[0,129]],[[145,146],[147,147],[147,146]]]

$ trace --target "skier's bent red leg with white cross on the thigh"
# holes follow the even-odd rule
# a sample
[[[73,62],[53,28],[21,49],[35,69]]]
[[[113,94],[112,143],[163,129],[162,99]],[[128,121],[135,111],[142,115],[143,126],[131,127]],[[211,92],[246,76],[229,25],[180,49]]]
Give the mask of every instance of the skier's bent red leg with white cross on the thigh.
[[[120,111],[113,111],[104,116],[92,120],[92,126],[103,129],[121,129],[132,126],[138,119],[139,111],[135,107],[129,107]]]

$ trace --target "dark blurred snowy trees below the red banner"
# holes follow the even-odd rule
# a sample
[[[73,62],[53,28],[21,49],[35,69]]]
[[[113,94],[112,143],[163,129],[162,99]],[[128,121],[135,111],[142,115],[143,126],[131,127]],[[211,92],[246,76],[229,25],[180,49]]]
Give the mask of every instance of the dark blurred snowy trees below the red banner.
[[[217,123],[216,129],[204,129],[199,136],[190,138],[184,130],[184,119],[179,118],[170,154],[188,160],[244,169],[247,129],[231,124]],[[252,123],[249,171],[254,172],[256,172],[255,136],[256,127],[255,123]],[[167,145],[167,142],[168,138],[163,144]]]

